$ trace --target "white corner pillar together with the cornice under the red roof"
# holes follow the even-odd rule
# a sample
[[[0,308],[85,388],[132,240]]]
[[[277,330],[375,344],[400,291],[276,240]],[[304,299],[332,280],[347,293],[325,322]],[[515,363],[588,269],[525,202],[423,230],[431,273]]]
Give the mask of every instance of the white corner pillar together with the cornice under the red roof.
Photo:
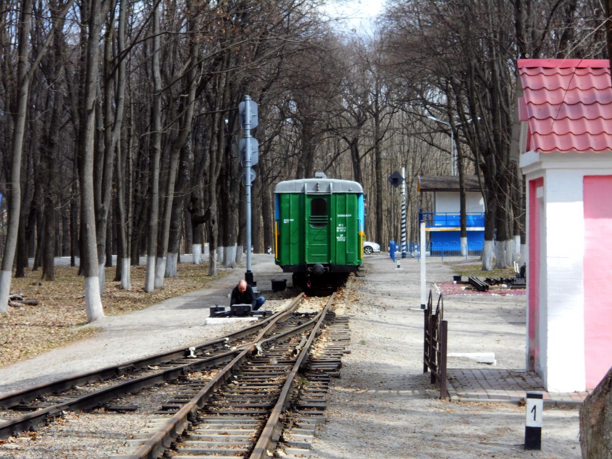
[[[527,152],[521,155],[521,169],[528,182],[544,177],[540,375],[547,390],[582,391],[586,387],[583,177],[612,174],[612,155]]]

